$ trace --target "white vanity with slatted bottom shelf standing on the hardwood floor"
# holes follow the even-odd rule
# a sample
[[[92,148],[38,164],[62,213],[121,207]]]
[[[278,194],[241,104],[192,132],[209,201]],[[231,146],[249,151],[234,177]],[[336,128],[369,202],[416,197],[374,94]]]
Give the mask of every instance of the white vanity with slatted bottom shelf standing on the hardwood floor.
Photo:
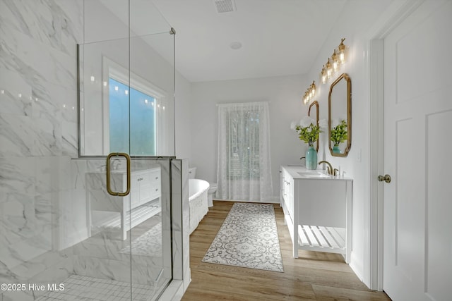
[[[293,257],[298,250],[343,254],[352,251],[351,178],[328,176],[302,166],[281,166],[280,204],[292,238]]]

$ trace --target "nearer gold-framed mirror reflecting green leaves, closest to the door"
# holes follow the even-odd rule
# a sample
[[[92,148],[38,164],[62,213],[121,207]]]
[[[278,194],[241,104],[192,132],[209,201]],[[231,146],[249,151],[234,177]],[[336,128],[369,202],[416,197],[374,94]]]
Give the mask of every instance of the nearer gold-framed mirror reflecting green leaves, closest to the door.
[[[347,156],[352,147],[352,80],[343,73],[328,94],[328,140],[331,156]]]

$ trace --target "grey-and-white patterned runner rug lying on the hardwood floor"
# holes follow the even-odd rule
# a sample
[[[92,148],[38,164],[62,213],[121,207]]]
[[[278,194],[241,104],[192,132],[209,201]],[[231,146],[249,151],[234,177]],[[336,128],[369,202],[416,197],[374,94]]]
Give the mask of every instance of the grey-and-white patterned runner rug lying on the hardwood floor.
[[[283,272],[273,204],[234,203],[202,261]]]

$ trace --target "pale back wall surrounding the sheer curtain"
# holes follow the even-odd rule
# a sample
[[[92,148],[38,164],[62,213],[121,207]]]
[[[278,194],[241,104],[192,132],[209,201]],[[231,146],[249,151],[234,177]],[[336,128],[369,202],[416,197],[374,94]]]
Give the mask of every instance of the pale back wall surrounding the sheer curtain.
[[[279,167],[300,164],[306,146],[290,130],[305,110],[301,95],[308,85],[304,75],[244,80],[194,82],[191,100],[191,157],[196,178],[216,182],[218,152],[218,111],[215,104],[226,102],[270,102],[270,147],[273,195],[279,202]]]

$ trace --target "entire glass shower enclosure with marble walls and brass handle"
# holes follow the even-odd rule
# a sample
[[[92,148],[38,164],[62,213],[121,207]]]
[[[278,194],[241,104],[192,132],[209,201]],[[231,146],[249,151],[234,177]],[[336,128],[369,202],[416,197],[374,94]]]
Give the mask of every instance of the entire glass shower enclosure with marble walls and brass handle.
[[[180,290],[174,30],[148,0],[0,7],[0,300]]]

